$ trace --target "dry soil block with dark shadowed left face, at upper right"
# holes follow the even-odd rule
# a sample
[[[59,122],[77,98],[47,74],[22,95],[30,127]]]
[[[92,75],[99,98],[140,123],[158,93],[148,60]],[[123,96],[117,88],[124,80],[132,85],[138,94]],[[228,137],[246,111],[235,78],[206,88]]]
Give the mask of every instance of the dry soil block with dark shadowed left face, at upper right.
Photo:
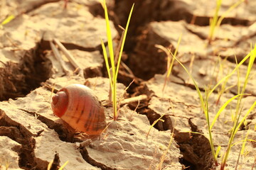
[[[156,73],[166,72],[166,57],[169,55],[155,45],[177,48],[178,38],[182,34],[178,47],[178,59],[190,62],[193,59],[228,57],[228,60],[242,60],[250,52],[250,42],[255,40],[255,24],[250,26],[222,25],[215,31],[212,45],[208,45],[208,26],[195,26],[184,21],[151,22],[137,42],[134,55],[129,57],[134,74],[149,79]],[[235,50],[234,50],[235,48]]]

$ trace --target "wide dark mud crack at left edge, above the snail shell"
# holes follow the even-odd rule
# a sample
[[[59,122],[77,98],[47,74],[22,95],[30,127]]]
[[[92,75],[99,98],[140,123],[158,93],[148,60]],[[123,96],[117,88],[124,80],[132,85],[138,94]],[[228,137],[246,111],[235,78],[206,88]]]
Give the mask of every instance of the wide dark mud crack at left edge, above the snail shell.
[[[40,44],[21,53],[20,62],[8,62],[0,68],[0,101],[26,96],[50,77],[51,64],[42,55]]]

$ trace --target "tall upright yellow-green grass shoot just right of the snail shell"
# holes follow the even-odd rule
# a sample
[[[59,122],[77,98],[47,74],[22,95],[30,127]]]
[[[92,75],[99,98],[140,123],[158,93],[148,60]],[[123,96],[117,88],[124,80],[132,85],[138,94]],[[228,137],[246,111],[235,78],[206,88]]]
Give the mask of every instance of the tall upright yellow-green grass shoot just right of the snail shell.
[[[126,35],[127,35],[129,21],[130,21],[131,16],[132,16],[132,10],[134,8],[134,4],[133,4],[132,9],[129,13],[127,26],[124,29],[124,32],[122,34],[122,38],[121,38],[121,41],[120,41],[121,44],[120,44],[120,47],[119,47],[119,52],[118,52],[118,54],[116,54],[117,60],[115,60],[115,57],[114,57],[112,33],[111,33],[111,29],[110,29],[110,19],[109,19],[108,14],[107,14],[107,5],[106,5],[105,0],[102,2],[102,6],[103,6],[104,11],[105,11],[105,21],[106,21],[106,28],[107,28],[107,46],[108,46],[108,50],[109,50],[109,54],[110,54],[110,56],[109,56],[110,57],[110,64],[108,62],[107,49],[106,49],[105,44],[104,44],[102,39],[101,39],[101,44],[102,44],[102,50],[103,50],[103,55],[104,55],[104,59],[105,59],[105,64],[106,64],[106,67],[107,67],[107,74],[108,74],[108,77],[110,79],[110,89],[111,89],[111,96],[112,96],[111,99],[112,99],[114,120],[117,120],[117,117],[118,117],[118,111],[117,111],[117,75],[118,75],[119,65],[120,65],[121,57],[122,57],[122,51],[123,51],[123,48],[124,48],[124,42],[125,42],[125,38],[126,38]],[[115,61],[117,61],[117,62],[115,62]]]

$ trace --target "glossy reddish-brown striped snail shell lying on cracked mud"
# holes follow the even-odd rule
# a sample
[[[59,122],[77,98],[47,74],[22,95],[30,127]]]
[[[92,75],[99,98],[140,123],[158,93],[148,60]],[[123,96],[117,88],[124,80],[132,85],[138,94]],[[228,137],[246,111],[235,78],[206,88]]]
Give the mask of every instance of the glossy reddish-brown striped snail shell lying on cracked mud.
[[[51,107],[55,115],[87,135],[100,135],[107,126],[104,109],[87,86],[65,86],[53,96]]]

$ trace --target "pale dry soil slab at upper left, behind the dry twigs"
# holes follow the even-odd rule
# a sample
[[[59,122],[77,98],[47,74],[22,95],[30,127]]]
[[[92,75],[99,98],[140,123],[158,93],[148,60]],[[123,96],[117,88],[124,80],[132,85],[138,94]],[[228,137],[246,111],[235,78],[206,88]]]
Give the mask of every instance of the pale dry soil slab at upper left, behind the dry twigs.
[[[80,47],[85,50],[95,50],[100,46],[100,38],[105,42],[105,19],[95,18],[90,13],[90,7],[69,2],[68,9],[60,8],[62,1],[41,6],[29,13],[36,28],[50,31],[54,38],[70,47]],[[103,10],[103,9],[102,9]],[[117,35],[114,25],[110,22],[113,38]],[[50,39],[49,39],[50,40]]]

